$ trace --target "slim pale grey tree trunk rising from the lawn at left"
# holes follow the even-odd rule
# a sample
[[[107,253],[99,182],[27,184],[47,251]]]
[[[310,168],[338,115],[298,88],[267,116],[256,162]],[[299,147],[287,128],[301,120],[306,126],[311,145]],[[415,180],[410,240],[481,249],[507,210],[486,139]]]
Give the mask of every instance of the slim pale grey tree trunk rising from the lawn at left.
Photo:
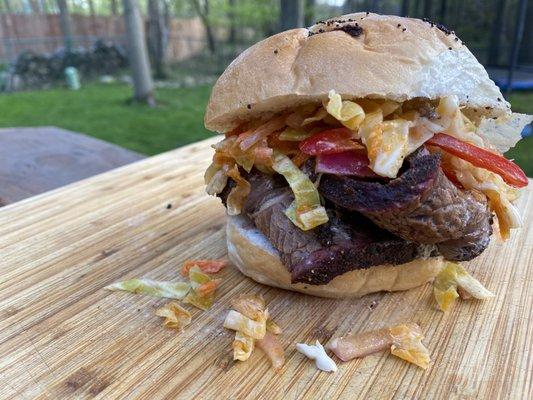
[[[128,56],[133,74],[134,100],[155,106],[154,83],[144,40],[144,26],[137,0],[123,0]]]

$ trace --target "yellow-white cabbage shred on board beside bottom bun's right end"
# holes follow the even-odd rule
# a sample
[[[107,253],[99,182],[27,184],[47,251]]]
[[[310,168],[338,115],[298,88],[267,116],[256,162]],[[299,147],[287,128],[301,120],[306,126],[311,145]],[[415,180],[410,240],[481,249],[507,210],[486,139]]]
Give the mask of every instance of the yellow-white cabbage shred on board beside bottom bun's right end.
[[[447,311],[459,297],[458,289],[475,299],[486,300],[494,294],[473,278],[459,264],[448,262],[435,278],[433,294],[442,311]]]

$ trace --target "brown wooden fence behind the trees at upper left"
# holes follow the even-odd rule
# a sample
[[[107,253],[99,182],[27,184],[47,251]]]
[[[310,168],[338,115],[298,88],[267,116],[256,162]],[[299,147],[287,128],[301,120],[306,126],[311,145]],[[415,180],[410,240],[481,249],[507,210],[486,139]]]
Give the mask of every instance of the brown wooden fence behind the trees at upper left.
[[[122,17],[71,15],[74,47],[90,47],[98,38],[125,45]],[[170,21],[168,58],[187,59],[205,47],[205,31],[199,18]],[[9,62],[22,51],[52,53],[63,46],[59,15],[0,14],[0,62]]]

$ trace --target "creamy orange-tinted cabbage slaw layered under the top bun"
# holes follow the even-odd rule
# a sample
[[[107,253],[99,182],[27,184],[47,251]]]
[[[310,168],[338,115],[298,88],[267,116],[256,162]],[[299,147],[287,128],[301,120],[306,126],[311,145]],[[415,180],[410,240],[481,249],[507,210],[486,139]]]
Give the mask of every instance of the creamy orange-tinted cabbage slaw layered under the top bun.
[[[313,155],[295,150],[294,145],[313,135],[335,128],[349,129],[355,146],[367,153],[370,170],[383,178],[398,176],[403,160],[430,140],[444,133],[495,154],[508,150],[520,139],[520,131],[532,116],[509,113],[488,118],[483,112],[464,109],[457,96],[438,100],[412,99],[404,103],[384,99],[348,99],[331,90],[322,104],[306,104],[291,112],[265,116],[244,122],[226,134],[214,146],[213,163],[207,169],[207,192],[222,192],[228,178],[236,185],[228,199],[229,215],[242,212],[250,191],[243,172],[253,167],[264,173],[281,173],[293,189],[295,201],[286,210],[287,217],[300,229],[313,229],[328,221],[320,196],[308,179],[297,171]],[[468,161],[440,151],[448,160],[453,177],[467,190],[487,196],[496,213],[502,238],[520,226],[520,216],[512,204],[518,197],[516,188],[502,182],[501,177]],[[320,157],[320,156],[318,156]],[[448,175],[448,174],[447,174]]]

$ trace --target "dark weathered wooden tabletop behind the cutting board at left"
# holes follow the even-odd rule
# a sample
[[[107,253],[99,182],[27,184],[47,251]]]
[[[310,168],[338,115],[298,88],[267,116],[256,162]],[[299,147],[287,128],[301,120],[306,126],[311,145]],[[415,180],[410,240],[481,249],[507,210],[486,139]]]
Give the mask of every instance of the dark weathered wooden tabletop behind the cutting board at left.
[[[144,158],[56,127],[0,129],[0,206]]]

